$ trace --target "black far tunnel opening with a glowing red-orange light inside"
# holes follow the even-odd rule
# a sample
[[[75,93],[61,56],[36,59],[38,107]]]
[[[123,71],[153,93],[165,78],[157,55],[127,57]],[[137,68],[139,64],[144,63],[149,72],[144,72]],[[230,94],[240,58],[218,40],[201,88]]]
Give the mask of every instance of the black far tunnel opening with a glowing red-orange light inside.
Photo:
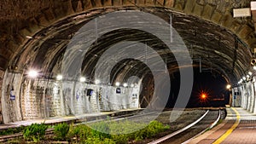
[[[223,75],[211,69],[194,67],[194,83],[187,104],[191,107],[225,107],[230,102],[230,89],[226,89],[227,81]],[[177,101],[180,89],[180,73],[173,72],[171,92],[166,108],[172,108]]]

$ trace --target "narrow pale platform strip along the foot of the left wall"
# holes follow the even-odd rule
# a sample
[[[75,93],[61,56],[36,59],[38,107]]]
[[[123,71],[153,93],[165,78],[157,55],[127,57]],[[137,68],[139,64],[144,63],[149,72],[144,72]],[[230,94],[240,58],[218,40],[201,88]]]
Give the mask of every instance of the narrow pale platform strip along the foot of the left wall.
[[[36,119],[29,119],[23,121],[16,121],[14,123],[9,124],[0,124],[0,130],[7,130],[9,128],[16,128],[20,127],[21,125],[27,126],[33,123],[37,124],[58,124],[62,122],[66,122],[68,124],[77,124],[79,122],[90,122],[95,120],[100,120],[102,118],[108,117],[121,117],[124,115],[131,115],[136,114],[137,112],[143,111],[143,108],[137,109],[124,109],[124,110],[117,110],[117,111],[109,111],[109,112],[95,112],[95,113],[85,113],[80,115],[73,115],[73,116],[63,116],[63,117],[50,117],[50,118],[36,118]]]

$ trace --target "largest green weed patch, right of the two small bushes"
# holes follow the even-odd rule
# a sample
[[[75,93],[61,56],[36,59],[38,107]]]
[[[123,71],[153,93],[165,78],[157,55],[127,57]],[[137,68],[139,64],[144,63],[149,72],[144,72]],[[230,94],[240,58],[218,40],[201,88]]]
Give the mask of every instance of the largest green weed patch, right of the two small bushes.
[[[147,125],[127,120],[112,123],[99,122],[91,124],[90,127],[86,125],[71,126],[68,135],[71,140],[75,140],[72,142],[125,144],[128,141],[141,141],[150,138],[169,128],[158,121],[152,121]]]

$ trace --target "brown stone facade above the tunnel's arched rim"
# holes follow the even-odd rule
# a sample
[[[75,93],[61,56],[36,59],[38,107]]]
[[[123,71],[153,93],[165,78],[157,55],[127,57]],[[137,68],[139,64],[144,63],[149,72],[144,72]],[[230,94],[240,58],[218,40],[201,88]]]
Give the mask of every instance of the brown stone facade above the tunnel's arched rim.
[[[5,70],[8,67],[9,60],[14,58],[13,54],[17,49],[22,49],[23,44],[26,43],[26,36],[33,36],[44,27],[72,14],[89,12],[92,9],[106,9],[106,11],[109,10],[107,8],[115,10],[122,7],[174,9],[224,26],[236,33],[250,48],[254,48],[256,39],[252,20],[234,19],[231,12],[233,8],[247,8],[249,4],[249,0],[45,0],[26,3],[21,0],[13,3],[3,0],[0,3],[3,10],[0,14],[0,27],[2,28],[0,51],[5,52],[0,53],[0,60],[4,61],[0,69]]]

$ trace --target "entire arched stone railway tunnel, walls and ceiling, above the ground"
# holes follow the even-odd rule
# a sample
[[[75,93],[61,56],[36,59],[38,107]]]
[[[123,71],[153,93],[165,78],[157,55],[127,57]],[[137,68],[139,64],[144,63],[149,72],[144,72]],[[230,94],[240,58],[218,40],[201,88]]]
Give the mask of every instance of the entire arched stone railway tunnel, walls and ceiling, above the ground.
[[[230,104],[256,112],[254,15],[234,18],[232,11],[250,1],[0,5],[1,123],[145,108],[152,101],[204,107],[195,101],[196,84],[224,89],[207,107]]]

